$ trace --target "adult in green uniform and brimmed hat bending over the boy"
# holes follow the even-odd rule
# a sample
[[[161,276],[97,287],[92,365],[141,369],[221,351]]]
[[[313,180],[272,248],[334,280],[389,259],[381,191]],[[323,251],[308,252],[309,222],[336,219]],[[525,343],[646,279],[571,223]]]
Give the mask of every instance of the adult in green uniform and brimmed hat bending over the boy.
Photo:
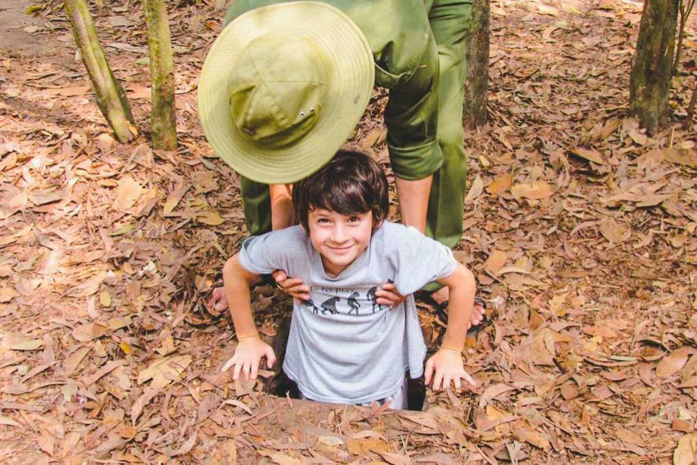
[[[385,123],[401,220],[457,245],[470,10],[471,0],[233,1],[201,74],[199,116],[241,175],[250,234],[290,225],[282,186],[332,157],[377,85],[390,89]]]

